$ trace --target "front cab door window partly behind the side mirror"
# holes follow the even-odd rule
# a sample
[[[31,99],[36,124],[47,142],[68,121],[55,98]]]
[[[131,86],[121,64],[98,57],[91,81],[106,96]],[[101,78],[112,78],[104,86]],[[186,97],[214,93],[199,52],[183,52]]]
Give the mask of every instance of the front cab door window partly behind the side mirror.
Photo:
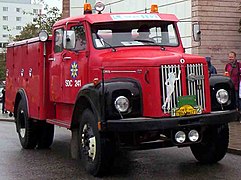
[[[71,30],[75,31],[75,48],[74,51],[85,50],[86,48],[86,36],[85,36],[85,29],[83,25],[72,26]]]

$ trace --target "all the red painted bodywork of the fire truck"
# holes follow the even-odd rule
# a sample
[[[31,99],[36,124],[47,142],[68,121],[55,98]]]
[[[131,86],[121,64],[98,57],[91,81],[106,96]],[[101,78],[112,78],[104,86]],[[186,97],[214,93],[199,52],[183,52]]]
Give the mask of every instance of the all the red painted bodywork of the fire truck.
[[[43,42],[35,40],[33,43],[19,43],[20,45],[18,46],[12,44],[12,47],[9,47],[7,52],[6,108],[13,111],[16,92],[19,88],[23,88],[28,98],[30,117],[48,119],[50,123],[70,128],[73,106],[80,87],[66,87],[66,80],[81,80],[81,86],[92,82],[95,78],[101,80],[100,68],[104,67],[105,70],[140,70],[141,73],[117,72],[105,74],[105,79],[131,77],[138,80],[143,92],[144,116],[164,116],[161,109],[162,104],[159,89],[160,65],[170,63],[180,64],[179,61],[181,58],[185,59],[185,63],[195,62],[206,64],[205,59],[199,56],[184,54],[181,41],[178,47],[167,47],[165,50],[160,50],[160,47],[116,48],[116,52],[112,52],[111,49],[97,50],[92,44],[89,23],[113,21],[110,15],[112,14],[88,14],[56,22],[53,32],[57,27],[66,29],[67,22],[72,22],[72,25],[74,23],[77,24],[77,22],[84,24],[87,36],[87,48],[85,51],[79,53],[67,50],[61,53],[53,53],[54,42],[48,41],[46,43],[47,58],[45,66],[43,63]],[[174,15],[158,14],[158,16],[163,21],[178,21]],[[179,34],[177,36],[180,37]],[[64,60],[65,57],[70,57],[70,59]],[[49,61],[48,58],[55,58],[55,61]],[[78,64],[78,75],[75,78],[71,78],[70,66],[74,62]],[[185,73],[184,65],[182,65],[182,73]],[[28,75],[29,68],[33,69],[33,76],[31,78]],[[25,70],[23,77],[20,76],[21,69]],[[149,84],[144,79],[144,74],[147,71],[149,72]],[[44,76],[44,73],[46,73],[46,76]],[[206,65],[204,75],[208,77]],[[46,77],[45,83],[43,83],[43,77]],[[182,78],[185,77],[186,75],[182,76]],[[183,79],[182,82],[186,82],[186,80]],[[184,85],[183,87],[185,88],[186,86]],[[208,78],[205,78],[205,87],[209,87]],[[185,91],[186,89],[184,89],[184,95]],[[207,88],[205,91],[206,97],[210,97],[209,89]],[[206,112],[209,112],[211,110],[210,99],[206,99],[206,107]]]

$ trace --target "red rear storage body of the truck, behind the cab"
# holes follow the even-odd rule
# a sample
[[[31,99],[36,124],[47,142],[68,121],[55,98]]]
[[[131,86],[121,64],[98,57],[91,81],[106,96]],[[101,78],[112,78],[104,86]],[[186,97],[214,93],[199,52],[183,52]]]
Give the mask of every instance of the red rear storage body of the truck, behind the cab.
[[[12,43],[7,49],[6,109],[13,112],[17,91],[24,89],[29,115],[45,120],[53,117],[53,103],[49,100],[49,63],[44,64],[43,43],[38,39]],[[47,53],[51,41],[46,42]],[[32,69],[32,76],[29,70]],[[23,76],[21,71],[24,70]],[[45,78],[44,78],[45,77]]]

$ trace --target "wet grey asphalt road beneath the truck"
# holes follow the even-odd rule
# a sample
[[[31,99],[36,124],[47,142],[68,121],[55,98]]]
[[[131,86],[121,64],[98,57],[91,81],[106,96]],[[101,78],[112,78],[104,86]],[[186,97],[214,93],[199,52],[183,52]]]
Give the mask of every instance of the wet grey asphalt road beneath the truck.
[[[241,176],[241,156],[227,154],[218,164],[201,165],[189,148],[123,152],[103,178],[87,175],[69,154],[70,131],[56,127],[49,150],[24,150],[12,122],[0,122],[0,180],[48,179],[228,179]]]

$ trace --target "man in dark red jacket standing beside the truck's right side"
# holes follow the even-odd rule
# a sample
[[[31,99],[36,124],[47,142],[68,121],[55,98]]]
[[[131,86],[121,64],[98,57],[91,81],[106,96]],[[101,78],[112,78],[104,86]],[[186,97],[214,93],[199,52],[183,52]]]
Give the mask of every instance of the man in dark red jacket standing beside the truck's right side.
[[[230,51],[228,53],[229,63],[225,66],[225,74],[228,75],[235,87],[235,96],[236,96],[236,107],[241,110],[241,103],[239,100],[239,83],[240,83],[240,68],[241,64],[236,59],[236,53],[234,51]]]

